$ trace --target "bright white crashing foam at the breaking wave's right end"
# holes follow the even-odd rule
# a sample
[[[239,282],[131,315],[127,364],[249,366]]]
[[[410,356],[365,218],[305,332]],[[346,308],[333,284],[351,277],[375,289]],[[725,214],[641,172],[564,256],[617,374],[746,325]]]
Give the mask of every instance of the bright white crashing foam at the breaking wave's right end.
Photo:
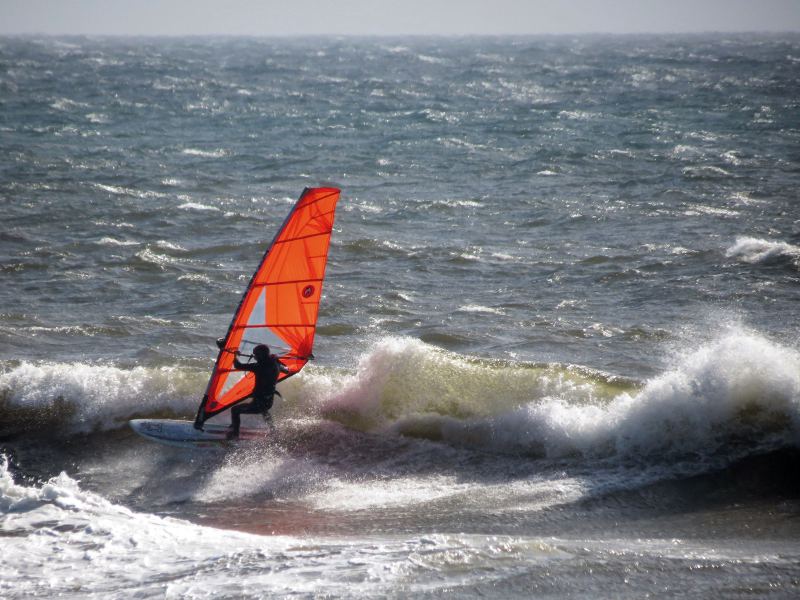
[[[637,393],[589,404],[551,396],[488,425],[485,443],[548,457],[661,460],[723,451],[735,458],[737,447],[748,452],[800,439],[800,353],[732,329],[686,352]]]

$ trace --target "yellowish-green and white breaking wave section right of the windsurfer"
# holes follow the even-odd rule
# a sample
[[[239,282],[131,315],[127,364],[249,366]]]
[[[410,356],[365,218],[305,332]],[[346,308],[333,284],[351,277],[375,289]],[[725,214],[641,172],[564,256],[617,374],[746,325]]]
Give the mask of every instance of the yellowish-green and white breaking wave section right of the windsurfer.
[[[549,458],[664,459],[800,441],[795,349],[732,329],[674,361],[635,386],[393,339],[365,355],[355,375],[308,385],[324,390],[320,413],[348,426]]]

